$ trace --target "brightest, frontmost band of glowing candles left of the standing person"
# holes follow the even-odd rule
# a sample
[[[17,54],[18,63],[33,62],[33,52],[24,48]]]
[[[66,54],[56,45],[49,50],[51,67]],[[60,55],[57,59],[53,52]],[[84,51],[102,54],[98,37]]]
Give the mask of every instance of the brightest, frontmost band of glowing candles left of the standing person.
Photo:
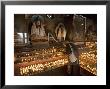
[[[68,63],[67,57],[59,59],[57,61],[45,62],[43,64],[32,64],[27,67],[20,67],[20,75],[32,75],[47,70],[55,69],[57,67],[64,66]],[[31,72],[31,74],[30,74]]]

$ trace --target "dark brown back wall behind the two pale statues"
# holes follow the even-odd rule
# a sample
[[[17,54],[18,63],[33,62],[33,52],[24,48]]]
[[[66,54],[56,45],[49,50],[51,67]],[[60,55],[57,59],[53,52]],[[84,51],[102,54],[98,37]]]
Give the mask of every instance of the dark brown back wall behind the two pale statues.
[[[39,15],[39,14],[36,14]],[[44,18],[44,25],[46,33],[51,32],[55,36],[55,28],[59,23],[63,23],[66,30],[66,40],[74,41],[84,41],[85,35],[90,32],[95,32],[97,36],[97,15],[96,14],[77,14],[78,17],[73,20],[74,14],[48,14],[51,18],[47,17],[47,14],[40,14]],[[14,15],[14,32],[31,32],[32,18],[33,14],[15,14]],[[85,30],[85,19],[86,17],[86,30]],[[81,25],[83,24],[83,25]],[[76,32],[78,33],[78,38],[76,38]],[[91,40],[89,40],[91,41]],[[95,39],[96,41],[96,39]]]

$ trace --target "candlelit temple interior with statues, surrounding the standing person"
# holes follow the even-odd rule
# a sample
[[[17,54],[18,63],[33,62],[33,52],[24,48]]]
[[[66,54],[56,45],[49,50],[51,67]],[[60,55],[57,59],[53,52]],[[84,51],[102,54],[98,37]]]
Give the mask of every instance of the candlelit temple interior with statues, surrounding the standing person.
[[[67,44],[77,49],[80,70],[70,70]],[[97,75],[97,15],[14,14],[14,75],[68,76],[69,71]]]

